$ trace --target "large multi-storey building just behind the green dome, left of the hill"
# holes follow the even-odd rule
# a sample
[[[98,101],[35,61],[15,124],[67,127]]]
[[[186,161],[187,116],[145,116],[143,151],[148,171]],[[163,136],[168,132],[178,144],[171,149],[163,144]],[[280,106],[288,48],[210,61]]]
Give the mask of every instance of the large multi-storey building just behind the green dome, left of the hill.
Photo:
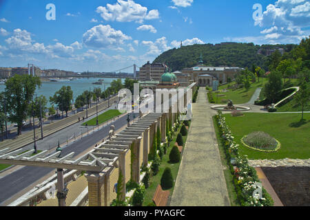
[[[159,81],[165,73],[167,66],[163,63],[147,63],[140,68],[138,80],[140,81]]]

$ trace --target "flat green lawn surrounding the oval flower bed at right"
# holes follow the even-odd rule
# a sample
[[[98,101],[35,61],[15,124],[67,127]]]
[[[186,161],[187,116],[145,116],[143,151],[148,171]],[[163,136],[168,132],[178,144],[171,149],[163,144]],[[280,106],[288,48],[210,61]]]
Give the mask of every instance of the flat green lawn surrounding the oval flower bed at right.
[[[310,113],[304,113],[304,124],[300,124],[300,113],[245,113],[242,117],[225,114],[226,122],[239,153],[249,159],[309,159],[310,158]],[[264,153],[243,146],[240,139],[254,131],[265,131],[281,143],[275,153]]]

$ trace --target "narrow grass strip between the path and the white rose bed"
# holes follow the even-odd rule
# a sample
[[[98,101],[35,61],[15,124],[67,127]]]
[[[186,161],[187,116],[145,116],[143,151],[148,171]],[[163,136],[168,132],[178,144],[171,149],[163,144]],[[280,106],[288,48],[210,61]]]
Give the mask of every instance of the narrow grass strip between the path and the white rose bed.
[[[240,203],[239,203],[238,197],[237,197],[237,192],[236,192],[234,182],[233,182],[234,176],[231,175],[231,173],[230,173],[229,166],[227,165],[227,163],[229,163],[229,161],[227,161],[227,157],[225,154],[225,148],[222,145],[222,142],[220,142],[220,134],[218,132],[218,126],[216,125],[215,118],[213,117],[212,119],[214,122],[214,129],[216,131],[216,139],[218,140],[218,150],[220,151],[220,160],[221,160],[222,166],[223,166],[223,173],[224,173],[224,177],[225,177],[225,181],[226,181],[230,206],[240,206]]]

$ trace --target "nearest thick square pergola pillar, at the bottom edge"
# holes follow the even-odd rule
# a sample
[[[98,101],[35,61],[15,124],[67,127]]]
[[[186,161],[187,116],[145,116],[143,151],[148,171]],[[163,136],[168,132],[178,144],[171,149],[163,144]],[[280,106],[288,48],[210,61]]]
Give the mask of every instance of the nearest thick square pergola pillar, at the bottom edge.
[[[89,206],[104,206],[104,180],[105,173],[86,173],[88,182],[88,203]]]

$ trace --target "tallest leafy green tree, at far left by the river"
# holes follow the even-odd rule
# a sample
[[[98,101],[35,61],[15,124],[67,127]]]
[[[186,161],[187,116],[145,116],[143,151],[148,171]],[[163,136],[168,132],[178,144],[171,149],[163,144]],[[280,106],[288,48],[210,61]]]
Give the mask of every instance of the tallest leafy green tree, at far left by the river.
[[[17,123],[17,135],[21,135],[21,127],[28,116],[34,91],[40,86],[41,81],[37,76],[14,75],[6,81],[8,120]]]

